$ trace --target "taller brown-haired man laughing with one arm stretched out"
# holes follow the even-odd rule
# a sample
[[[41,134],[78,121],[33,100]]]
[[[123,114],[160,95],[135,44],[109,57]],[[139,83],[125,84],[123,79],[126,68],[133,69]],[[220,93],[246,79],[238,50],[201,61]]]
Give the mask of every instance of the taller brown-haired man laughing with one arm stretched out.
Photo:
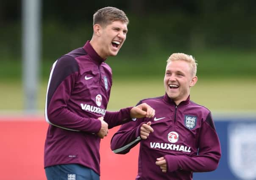
[[[100,139],[108,129],[154,115],[145,103],[106,111],[112,71],[105,60],[122,47],[128,18],[114,7],[102,8],[93,17],[92,39],[57,59],[50,72],[45,103],[48,180],[99,180]]]

